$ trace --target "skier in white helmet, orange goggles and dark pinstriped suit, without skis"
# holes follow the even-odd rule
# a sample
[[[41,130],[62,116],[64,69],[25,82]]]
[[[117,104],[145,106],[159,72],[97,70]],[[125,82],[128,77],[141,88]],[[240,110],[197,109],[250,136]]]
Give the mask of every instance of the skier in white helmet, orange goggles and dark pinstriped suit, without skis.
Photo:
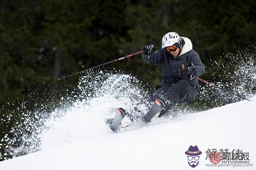
[[[151,65],[163,65],[162,85],[150,96],[154,102],[161,98],[166,101],[160,116],[166,114],[177,103],[188,104],[198,94],[197,76],[204,73],[199,54],[192,49],[192,42],[186,37],[180,37],[176,32],[163,36],[162,48],[155,51],[154,45],[143,48],[143,59]]]

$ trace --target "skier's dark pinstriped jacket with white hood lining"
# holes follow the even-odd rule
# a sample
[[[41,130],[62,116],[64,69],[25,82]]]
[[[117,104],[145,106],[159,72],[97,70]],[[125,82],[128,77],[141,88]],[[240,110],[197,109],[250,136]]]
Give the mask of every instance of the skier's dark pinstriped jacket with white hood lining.
[[[204,65],[199,58],[199,54],[192,49],[191,41],[186,37],[181,38],[185,44],[180,52],[180,57],[174,58],[165,48],[154,51],[152,54],[142,54],[142,57],[148,64],[163,65],[163,85],[173,85],[182,79],[186,79],[189,84],[199,90],[198,79],[190,80],[186,76],[186,72],[188,68],[194,68],[200,76],[204,73]]]

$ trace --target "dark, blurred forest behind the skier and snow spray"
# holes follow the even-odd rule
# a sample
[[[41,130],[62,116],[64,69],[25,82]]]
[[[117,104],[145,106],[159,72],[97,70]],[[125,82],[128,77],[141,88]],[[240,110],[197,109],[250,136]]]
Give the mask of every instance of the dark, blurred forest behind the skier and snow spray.
[[[255,0],[1,0],[0,139],[14,123],[2,117],[14,114],[22,102],[26,109],[35,109],[38,101],[55,105],[70,93],[67,89],[77,87],[79,75],[58,80],[62,75],[147,44],[160,49],[169,31],[192,41],[207,66],[202,78],[210,81],[212,61],[222,56],[229,62],[228,54],[256,44],[255,9]],[[151,87],[161,80],[161,66],[146,64],[140,55],[108,67]]]

